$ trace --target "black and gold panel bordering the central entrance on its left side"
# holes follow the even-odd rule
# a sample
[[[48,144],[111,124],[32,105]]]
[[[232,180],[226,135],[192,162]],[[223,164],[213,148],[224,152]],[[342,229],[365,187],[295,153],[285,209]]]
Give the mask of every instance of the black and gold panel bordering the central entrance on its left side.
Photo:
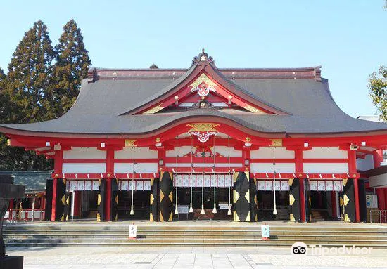
[[[160,172],[160,221],[173,219],[172,172]]]

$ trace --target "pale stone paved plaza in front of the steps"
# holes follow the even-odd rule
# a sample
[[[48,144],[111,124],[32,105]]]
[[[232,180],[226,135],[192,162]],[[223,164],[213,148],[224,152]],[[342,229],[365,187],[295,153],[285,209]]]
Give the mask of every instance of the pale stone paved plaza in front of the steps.
[[[360,256],[295,256],[290,248],[8,247],[25,269],[46,268],[387,268],[387,250]]]

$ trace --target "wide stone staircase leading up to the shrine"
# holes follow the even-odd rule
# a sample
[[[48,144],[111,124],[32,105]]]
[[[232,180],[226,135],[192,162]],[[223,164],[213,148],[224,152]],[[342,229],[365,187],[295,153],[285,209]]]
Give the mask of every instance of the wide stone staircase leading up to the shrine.
[[[260,224],[220,226],[137,225],[137,239],[128,238],[129,223],[72,225],[7,225],[6,246],[236,246],[289,247],[302,241],[307,245],[357,246],[387,249],[387,226],[270,225],[270,240],[262,240]]]

